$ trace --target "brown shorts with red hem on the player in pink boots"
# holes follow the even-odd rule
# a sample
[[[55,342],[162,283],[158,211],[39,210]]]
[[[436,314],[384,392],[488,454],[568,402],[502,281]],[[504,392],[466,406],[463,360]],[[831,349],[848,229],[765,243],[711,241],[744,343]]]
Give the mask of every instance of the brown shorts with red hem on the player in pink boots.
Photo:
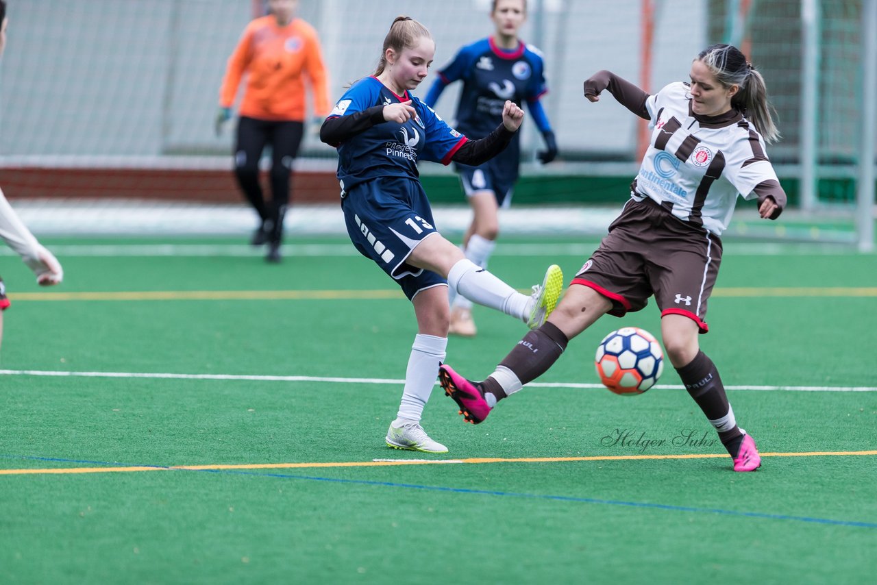
[[[616,317],[642,309],[654,295],[661,316],[689,317],[708,332],[707,299],[722,261],[722,240],[651,199],[631,199],[609,230],[572,284],[606,296]]]

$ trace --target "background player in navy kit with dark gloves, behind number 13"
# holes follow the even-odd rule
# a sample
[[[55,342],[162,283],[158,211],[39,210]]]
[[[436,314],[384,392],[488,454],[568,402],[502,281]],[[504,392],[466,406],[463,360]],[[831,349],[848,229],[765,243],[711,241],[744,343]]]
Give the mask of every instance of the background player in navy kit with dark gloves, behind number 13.
[[[545,139],[546,149],[538,153],[538,158],[547,163],[557,156],[557,143],[539,101],[547,91],[542,55],[517,38],[526,16],[526,0],[494,0],[490,18],[496,25],[496,32],[460,48],[453,61],[439,71],[439,77],[432,83],[424,102],[435,107],[442,90],[448,84],[462,80],[455,124],[470,138],[482,138],[496,128],[502,120],[506,100],[518,106],[526,102]],[[473,210],[472,224],[463,238],[463,251],[481,268],[487,268],[496,246],[498,209],[511,203],[519,161],[520,140],[516,134],[509,147],[490,161],[481,165],[456,165]],[[451,292],[451,332],[471,337],[476,333],[472,303],[464,296],[453,296],[453,290]]]

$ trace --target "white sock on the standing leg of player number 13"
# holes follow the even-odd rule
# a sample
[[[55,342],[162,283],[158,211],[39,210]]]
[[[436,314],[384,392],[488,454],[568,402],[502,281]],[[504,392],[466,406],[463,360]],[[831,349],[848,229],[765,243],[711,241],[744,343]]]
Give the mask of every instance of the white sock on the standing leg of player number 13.
[[[421,334],[414,337],[397,418],[420,422],[426,401],[430,399],[436,377],[439,375],[439,364],[445,360],[446,349],[446,337]]]

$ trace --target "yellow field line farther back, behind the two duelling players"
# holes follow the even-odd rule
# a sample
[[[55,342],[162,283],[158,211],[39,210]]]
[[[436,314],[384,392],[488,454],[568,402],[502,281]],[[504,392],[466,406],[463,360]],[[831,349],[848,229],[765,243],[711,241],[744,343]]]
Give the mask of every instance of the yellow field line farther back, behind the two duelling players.
[[[877,287],[738,287],[712,296],[877,296]],[[11,294],[13,301],[283,301],[402,299],[399,290],[144,290],[117,292],[33,292]]]

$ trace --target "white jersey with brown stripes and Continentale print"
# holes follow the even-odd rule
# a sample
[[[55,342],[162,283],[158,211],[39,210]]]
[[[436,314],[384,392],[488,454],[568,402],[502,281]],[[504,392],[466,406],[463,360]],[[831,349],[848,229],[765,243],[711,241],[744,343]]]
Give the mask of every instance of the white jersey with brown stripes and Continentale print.
[[[684,82],[648,96],[645,108],[652,136],[631,184],[634,199],[649,197],[676,218],[719,236],[731,221],[738,195],[759,197],[754,189],[766,182],[779,187],[764,139],[739,111],[696,115]],[[780,198],[784,206],[784,194]]]

